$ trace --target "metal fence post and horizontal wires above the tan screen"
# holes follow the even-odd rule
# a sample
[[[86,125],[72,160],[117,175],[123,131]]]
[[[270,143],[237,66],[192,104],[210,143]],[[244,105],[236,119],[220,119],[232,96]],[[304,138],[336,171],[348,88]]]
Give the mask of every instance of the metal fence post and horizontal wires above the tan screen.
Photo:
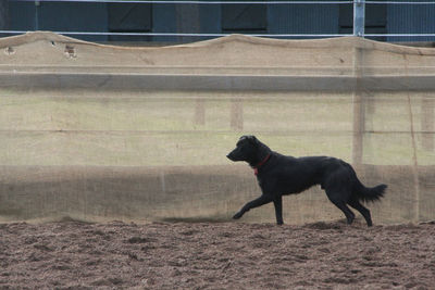
[[[258,37],[269,38],[325,38],[340,36],[358,36],[358,37],[434,37],[434,33],[424,34],[365,34],[365,5],[366,4],[391,4],[391,5],[435,5],[434,1],[375,1],[375,0],[349,0],[349,1],[221,1],[221,0],[14,0],[15,2],[35,2],[39,5],[41,2],[80,2],[80,3],[144,3],[144,4],[199,4],[199,5],[217,5],[217,4],[258,4],[258,5],[284,5],[284,4],[353,4],[353,30],[352,34],[249,34]],[[36,27],[36,30],[38,27]],[[0,34],[24,34],[26,30],[0,30]],[[53,31],[61,35],[70,36],[156,36],[156,37],[222,37],[229,34],[225,33],[116,33],[116,31]]]

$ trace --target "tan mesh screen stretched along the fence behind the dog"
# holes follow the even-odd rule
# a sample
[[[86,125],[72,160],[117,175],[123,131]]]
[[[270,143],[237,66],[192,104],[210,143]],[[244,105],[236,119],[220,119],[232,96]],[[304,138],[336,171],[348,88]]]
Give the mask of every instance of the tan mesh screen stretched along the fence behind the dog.
[[[237,35],[119,48],[50,33],[0,49],[0,222],[229,220],[260,194],[225,157],[244,134],[387,184],[374,223],[435,219],[434,49]],[[319,187],[284,199],[288,224],[336,218]],[[243,222],[274,222],[273,205]]]

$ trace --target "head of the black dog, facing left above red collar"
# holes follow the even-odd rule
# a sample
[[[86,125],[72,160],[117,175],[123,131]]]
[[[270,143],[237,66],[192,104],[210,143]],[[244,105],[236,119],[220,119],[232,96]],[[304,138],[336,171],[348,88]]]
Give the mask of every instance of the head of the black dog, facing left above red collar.
[[[253,164],[259,159],[261,142],[256,136],[241,136],[237,141],[236,148],[226,156],[231,161],[246,161]]]

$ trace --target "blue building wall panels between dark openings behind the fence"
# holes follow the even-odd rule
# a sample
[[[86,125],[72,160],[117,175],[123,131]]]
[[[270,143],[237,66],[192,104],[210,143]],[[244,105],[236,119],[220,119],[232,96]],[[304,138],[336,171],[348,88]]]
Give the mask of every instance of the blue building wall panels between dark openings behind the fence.
[[[107,3],[82,2],[10,2],[11,30],[54,30],[54,31],[110,31],[109,5]],[[348,4],[349,8],[351,4]],[[351,18],[349,8],[344,12],[339,4],[271,4],[262,5],[266,9],[265,30],[241,30],[252,34],[338,34],[350,33],[351,27],[343,27],[343,20]],[[340,9],[341,8],[341,9]],[[222,34],[238,33],[223,30],[223,9],[221,4],[197,5],[197,27],[181,23],[189,20],[189,15],[179,15],[176,4],[153,4],[150,9],[151,33],[202,33]],[[195,11],[195,10],[194,10]],[[390,4],[386,9],[386,21],[380,31],[389,34],[402,33],[435,33],[435,5],[397,5]],[[340,15],[341,14],[341,15]],[[384,13],[385,14],[385,13]],[[375,15],[374,18],[376,18]],[[370,15],[366,15],[370,18]],[[341,20],[341,21],[340,21]],[[373,22],[373,16],[372,16]],[[183,26],[183,25],[182,25]],[[195,28],[195,29],[192,29]],[[376,28],[376,27],[374,27]],[[373,27],[372,27],[373,30]],[[374,29],[377,31],[377,29]],[[146,41],[179,41],[179,37],[109,37],[109,36],[74,36],[84,40],[146,40]],[[207,39],[202,38],[202,39]],[[384,38],[385,39],[385,38]],[[185,40],[201,40],[187,38]],[[387,41],[425,40],[435,41],[434,37],[406,38],[388,37]]]

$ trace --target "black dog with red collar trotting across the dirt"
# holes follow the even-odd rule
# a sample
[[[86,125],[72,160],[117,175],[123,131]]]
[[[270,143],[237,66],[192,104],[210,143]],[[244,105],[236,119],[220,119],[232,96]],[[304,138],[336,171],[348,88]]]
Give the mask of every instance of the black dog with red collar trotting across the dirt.
[[[254,136],[241,136],[227,157],[232,161],[246,161],[254,169],[262,196],[248,202],[233,218],[240,218],[246,212],[273,202],[276,223],[283,224],[282,197],[302,192],[320,185],[327,198],[340,209],[351,224],[355,214],[346,204],[359,211],[368,226],[372,226],[370,211],[360,201],[376,201],[384,196],[386,185],[364,187],[353,168],[346,162],[327,156],[293,157],[284,156],[269,149]]]

